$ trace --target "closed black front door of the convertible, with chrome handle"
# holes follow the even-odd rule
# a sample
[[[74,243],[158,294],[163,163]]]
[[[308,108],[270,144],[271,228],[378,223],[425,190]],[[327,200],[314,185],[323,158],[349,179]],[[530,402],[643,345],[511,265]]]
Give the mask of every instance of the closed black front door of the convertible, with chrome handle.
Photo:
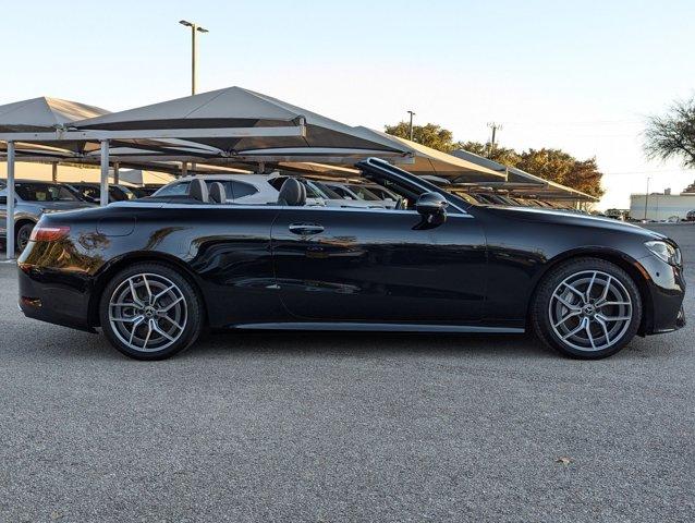
[[[485,238],[462,211],[418,229],[414,210],[280,210],[271,230],[282,303],[322,321],[470,324],[481,317]]]

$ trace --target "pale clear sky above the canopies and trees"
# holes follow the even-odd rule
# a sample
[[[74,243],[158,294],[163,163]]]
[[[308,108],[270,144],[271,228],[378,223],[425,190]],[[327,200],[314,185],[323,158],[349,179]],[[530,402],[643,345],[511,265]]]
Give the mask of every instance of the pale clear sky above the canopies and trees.
[[[351,125],[407,119],[455,139],[596,157],[607,191],[680,192],[695,171],[648,161],[649,114],[695,96],[695,1],[350,0],[3,2],[0,105],[37,96],[122,110],[251,88]]]

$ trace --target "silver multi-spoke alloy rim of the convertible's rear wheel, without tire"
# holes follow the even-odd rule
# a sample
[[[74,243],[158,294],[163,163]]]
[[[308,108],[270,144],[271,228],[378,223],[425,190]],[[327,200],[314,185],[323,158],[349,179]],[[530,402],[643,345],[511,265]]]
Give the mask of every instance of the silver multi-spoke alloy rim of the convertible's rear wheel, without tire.
[[[118,338],[141,352],[167,349],[181,338],[187,321],[181,289],[155,273],[133,275],[122,281],[109,301],[109,323]]]

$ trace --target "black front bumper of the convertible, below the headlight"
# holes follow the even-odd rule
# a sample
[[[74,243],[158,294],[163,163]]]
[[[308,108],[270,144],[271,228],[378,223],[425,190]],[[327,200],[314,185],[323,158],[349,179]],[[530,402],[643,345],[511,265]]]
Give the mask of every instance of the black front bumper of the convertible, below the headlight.
[[[685,326],[683,299],[685,278],[682,267],[673,267],[656,256],[639,260],[646,271],[648,309],[642,333],[660,335],[672,332]]]

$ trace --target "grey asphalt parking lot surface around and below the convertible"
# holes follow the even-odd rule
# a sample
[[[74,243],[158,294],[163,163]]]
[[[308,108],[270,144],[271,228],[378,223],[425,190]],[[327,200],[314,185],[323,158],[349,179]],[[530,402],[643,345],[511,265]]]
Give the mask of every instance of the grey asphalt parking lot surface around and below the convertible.
[[[0,522],[695,519],[690,325],[598,362],[529,337],[209,335],[135,362],[24,318],[0,264]]]

